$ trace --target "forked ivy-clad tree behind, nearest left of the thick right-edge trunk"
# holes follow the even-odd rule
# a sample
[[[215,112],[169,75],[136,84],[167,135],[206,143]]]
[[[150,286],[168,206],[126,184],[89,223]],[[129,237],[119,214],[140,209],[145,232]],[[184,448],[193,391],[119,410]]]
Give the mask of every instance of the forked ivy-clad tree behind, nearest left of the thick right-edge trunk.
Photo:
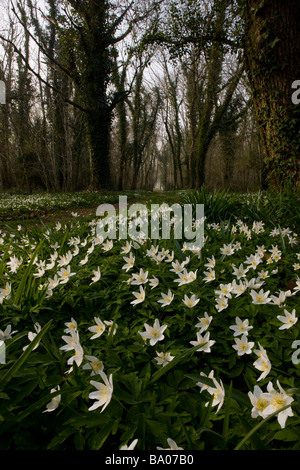
[[[200,188],[205,183],[209,146],[244,72],[236,54],[240,47],[235,36],[238,7],[229,0],[181,0],[169,5],[167,20],[153,27],[144,42],[158,42],[168,47],[171,59],[181,59],[189,121],[188,185]],[[231,52],[236,65],[224,73]]]

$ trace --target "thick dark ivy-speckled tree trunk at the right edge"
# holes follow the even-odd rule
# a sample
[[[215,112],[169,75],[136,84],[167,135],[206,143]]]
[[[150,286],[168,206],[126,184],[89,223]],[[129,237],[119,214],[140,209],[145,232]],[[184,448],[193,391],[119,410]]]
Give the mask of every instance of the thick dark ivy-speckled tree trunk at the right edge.
[[[299,185],[300,120],[291,100],[300,78],[299,0],[247,0],[245,55],[268,182]]]

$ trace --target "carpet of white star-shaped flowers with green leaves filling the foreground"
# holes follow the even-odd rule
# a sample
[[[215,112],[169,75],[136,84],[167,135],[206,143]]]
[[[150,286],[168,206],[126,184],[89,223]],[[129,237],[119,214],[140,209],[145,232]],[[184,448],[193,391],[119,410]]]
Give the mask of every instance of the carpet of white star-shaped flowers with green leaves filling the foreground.
[[[119,448],[133,439],[130,448],[159,448],[167,442],[173,449],[216,448],[196,431],[205,411],[203,429],[205,423],[217,433],[221,418],[232,421],[226,436],[233,447],[247,434],[241,422],[235,423],[239,413],[252,428],[260,423],[261,432],[269,426],[261,438],[271,433],[271,447],[272,439],[274,446],[295,445],[300,426],[295,228],[238,218],[234,223],[206,221],[203,248],[187,250],[185,241],[172,239],[104,240],[96,224],[97,218],[87,221],[73,214],[70,223],[1,230],[0,340],[7,345],[7,363],[0,365],[0,378],[51,319],[57,363],[65,365],[59,373],[52,364],[48,395],[41,388],[48,401],[39,412],[51,412],[46,413],[50,419],[68,408],[64,392],[68,397],[68,387],[78,385],[81,374],[84,391],[74,396],[83,403],[74,414],[95,414],[106,426],[97,444],[90,437],[91,447],[113,439],[119,426]],[[47,335],[38,337],[30,358]],[[165,396],[157,396],[164,387]],[[189,396],[198,416],[187,403]],[[137,403],[152,410],[146,416],[151,444],[140,418],[135,421],[128,411]],[[109,416],[115,424],[110,425]],[[289,428],[290,439],[283,434]],[[54,442],[59,448],[59,440]]]

